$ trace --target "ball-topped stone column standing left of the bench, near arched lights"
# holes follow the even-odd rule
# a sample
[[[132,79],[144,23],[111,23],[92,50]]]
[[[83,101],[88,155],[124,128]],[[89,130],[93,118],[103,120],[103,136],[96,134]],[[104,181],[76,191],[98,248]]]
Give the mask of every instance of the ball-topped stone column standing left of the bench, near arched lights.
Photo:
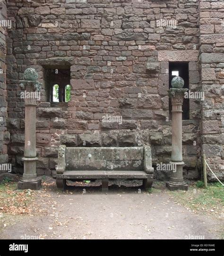
[[[24,174],[22,180],[18,182],[18,189],[36,190],[41,187],[41,179],[36,174],[36,160],[38,160],[36,157],[36,99],[41,89],[37,79],[38,73],[28,68],[24,72],[24,80],[20,81],[25,98],[25,149]]]

